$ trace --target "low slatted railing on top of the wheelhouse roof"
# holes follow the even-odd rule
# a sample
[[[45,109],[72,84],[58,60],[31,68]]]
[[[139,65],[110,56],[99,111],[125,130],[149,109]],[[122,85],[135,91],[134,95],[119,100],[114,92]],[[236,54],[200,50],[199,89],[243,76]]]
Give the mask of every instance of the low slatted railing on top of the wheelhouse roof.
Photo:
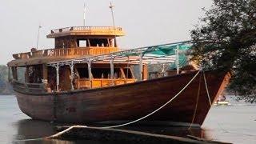
[[[113,26],[71,26],[71,27],[65,27],[62,29],[51,30],[51,34],[68,32],[73,30],[119,30],[119,31],[122,31],[122,28],[113,27]]]

